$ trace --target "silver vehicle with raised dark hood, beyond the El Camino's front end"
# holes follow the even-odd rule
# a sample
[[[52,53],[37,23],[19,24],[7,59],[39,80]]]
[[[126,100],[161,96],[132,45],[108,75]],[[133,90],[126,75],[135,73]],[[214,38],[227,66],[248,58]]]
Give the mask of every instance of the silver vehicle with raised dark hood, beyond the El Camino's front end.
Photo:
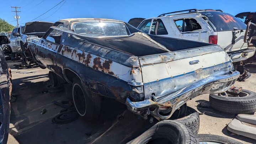
[[[18,56],[22,57],[21,54],[25,51],[26,38],[31,36],[42,37],[52,25],[52,22],[34,21],[27,22],[25,26],[14,28],[10,36],[11,43],[4,47],[5,54],[11,55],[11,59]]]

